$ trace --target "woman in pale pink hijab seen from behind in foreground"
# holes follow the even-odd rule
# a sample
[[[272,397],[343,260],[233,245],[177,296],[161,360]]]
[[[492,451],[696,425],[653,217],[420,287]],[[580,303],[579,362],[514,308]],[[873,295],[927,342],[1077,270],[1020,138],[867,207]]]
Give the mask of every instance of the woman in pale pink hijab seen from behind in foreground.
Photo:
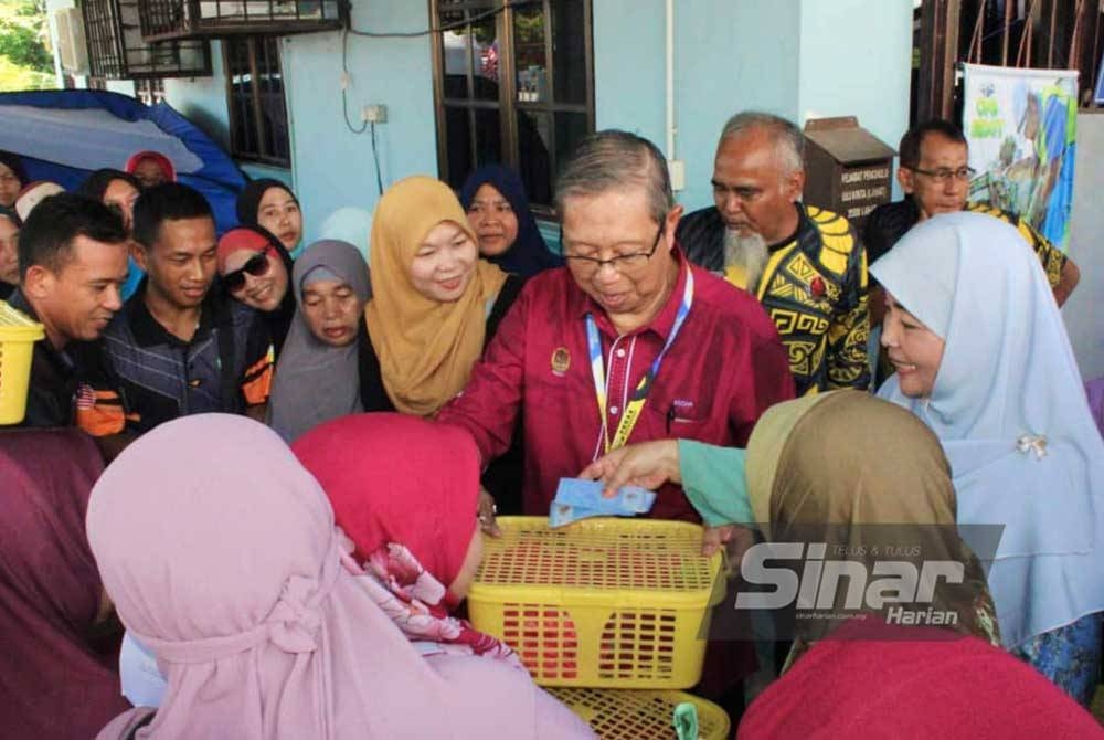
[[[103,739],[590,737],[516,668],[423,659],[351,573],[318,483],[257,422],[200,414],[146,434],[96,485],[87,527],[168,680],[156,713]]]

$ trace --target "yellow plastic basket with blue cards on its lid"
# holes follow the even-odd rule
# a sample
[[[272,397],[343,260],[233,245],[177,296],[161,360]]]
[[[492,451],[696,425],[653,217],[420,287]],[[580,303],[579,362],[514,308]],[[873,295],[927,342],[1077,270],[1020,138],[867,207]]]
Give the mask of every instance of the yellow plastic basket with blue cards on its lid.
[[[702,528],[599,518],[549,529],[502,517],[468,594],[479,630],[513,647],[542,686],[689,688],[701,677],[721,556]]]

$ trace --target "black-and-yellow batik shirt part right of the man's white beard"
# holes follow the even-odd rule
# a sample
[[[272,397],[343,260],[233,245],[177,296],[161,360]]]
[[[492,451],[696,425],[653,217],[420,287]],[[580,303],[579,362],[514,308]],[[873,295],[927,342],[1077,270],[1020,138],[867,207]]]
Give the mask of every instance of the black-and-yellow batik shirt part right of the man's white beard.
[[[867,257],[847,219],[798,205],[795,239],[772,250],[755,294],[789,352],[797,394],[870,383]]]

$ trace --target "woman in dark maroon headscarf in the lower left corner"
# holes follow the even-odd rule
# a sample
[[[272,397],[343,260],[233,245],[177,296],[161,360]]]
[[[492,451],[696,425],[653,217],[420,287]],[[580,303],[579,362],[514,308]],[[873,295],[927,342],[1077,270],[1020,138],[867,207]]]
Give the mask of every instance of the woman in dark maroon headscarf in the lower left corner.
[[[130,706],[84,535],[103,469],[77,430],[0,432],[0,738],[85,740]]]

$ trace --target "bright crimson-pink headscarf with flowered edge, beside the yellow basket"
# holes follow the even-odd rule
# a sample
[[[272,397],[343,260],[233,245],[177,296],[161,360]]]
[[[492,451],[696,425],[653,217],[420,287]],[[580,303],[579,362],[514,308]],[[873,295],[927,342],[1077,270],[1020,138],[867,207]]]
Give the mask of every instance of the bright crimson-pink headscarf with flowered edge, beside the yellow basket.
[[[463,431],[403,414],[327,422],[291,447],[333,505],[364,588],[426,655],[521,660],[449,615],[448,584],[476,532],[479,453]],[[364,451],[371,451],[364,454]]]

